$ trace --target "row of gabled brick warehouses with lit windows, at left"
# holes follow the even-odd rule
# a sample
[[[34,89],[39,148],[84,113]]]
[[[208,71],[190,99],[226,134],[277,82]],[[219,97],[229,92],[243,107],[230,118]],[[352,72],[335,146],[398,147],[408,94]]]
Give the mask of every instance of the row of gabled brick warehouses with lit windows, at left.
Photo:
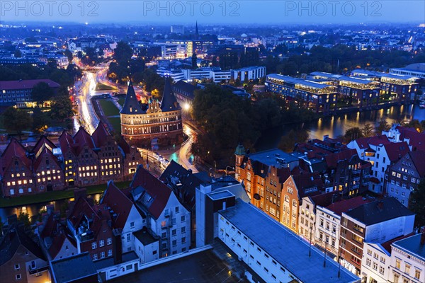
[[[0,185],[4,197],[32,195],[128,180],[141,163],[135,147],[117,143],[100,123],[92,135],[83,127],[74,136],[64,131],[59,145],[45,136],[32,148],[11,139],[0,157]]]

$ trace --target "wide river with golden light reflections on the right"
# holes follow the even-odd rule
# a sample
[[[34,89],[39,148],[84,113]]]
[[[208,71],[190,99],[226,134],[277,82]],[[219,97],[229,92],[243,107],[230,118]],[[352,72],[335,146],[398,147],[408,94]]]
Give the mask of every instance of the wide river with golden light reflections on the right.
[[[378,124],[382,119],[387,120],[389,124],[397,119],[407,120],[425,120],[425,109],[419,108],[419,105],[401,105],[380,110],[368,110],[362,112],[349,112],[341,115],[324,117],[312,122],[284,125],[276,129],[271,129],[266,135],[260,137],[256,142],[256,150],[276,148],[280,137],[288,133],[291,129],[305,129],[309,134],[309,139],[323,139],[323,136],[329,134],[329,137],[338,137],[344,135],[347,129],[351,127],[363,127],[366,123],[372,125]]]

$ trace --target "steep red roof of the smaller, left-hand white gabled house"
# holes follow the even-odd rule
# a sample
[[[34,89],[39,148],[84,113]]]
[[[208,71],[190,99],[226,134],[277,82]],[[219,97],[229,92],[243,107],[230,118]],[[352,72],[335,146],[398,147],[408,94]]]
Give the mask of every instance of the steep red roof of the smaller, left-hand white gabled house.
[[[114,228],[123,229],[133,204],[124,192],[114,185],[113,181],[108,182],[101,204],[107,204],[114,213],[118,214],[114,220]]]

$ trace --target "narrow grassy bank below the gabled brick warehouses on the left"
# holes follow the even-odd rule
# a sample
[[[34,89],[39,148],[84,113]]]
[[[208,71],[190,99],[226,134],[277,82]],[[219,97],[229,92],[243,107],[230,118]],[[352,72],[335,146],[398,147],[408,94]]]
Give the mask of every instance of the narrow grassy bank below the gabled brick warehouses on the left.
[[[115,183],[120,189],[125,189],[130,185],[130,181]],[[87,195],[103,193],[106,190],[106,184],[92,185],[86,187]],[[23,195],[21,197],[0,198],[0,208],[18,207],[28,204],[38,204],[40,202],[53,202],[55,200],[66,200],[74,197],[74,190],[58,190],[44,192],[37,195]]]

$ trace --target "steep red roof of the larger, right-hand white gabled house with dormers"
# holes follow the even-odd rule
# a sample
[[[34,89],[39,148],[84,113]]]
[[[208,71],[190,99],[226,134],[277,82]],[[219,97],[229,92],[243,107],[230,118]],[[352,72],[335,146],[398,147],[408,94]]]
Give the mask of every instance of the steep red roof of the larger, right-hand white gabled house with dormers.
[[[158,219],[169,201],[171,189],[142,166],[137,167],[130,187],[132,189],[142,187],[153,198],[152,204],[146,208],[152,216]]]

